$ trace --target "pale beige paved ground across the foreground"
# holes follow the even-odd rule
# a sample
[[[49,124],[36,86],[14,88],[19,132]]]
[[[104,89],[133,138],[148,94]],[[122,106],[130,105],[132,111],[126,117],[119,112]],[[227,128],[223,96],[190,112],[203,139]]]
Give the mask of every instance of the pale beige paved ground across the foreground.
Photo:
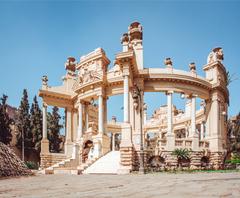
[[[240,197],[240,173],[39,175],[0,180],[0,197]]]

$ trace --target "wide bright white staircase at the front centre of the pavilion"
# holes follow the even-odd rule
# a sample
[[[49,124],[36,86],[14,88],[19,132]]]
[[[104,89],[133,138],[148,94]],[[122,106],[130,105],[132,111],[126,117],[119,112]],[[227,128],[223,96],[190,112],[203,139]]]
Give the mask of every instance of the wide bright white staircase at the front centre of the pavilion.
[[[111,151],[83,170],[83,174],[117,174],[120,169],[120,151]]]

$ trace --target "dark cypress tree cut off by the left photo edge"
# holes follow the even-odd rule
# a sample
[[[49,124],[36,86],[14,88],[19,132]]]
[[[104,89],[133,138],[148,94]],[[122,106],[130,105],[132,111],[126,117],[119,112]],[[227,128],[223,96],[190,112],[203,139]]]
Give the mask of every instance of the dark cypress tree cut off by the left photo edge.
[[[7,98],[4,95],[0,98],[0,142],[4,144],[9,144],[12,140],[10,124],[12,119],[9,118],[7,113]]]

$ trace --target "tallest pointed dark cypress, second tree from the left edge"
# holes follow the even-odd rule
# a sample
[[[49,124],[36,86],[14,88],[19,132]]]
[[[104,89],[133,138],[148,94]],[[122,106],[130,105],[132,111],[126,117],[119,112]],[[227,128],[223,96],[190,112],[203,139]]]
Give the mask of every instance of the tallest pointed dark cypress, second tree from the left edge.
[[[24,136],[24,150],[33,148],[33,135],[31,132],[29,103],[27,90],[23,90],[23,97],[17,114],[17,146],[22,148],[22,135]]]

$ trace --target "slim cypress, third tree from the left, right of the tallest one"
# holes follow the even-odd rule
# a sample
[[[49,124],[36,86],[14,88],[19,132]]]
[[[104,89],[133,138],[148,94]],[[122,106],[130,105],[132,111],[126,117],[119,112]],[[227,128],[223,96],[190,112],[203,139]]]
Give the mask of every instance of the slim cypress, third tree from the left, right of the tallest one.
[[[37,96],[34,96],[30,110],[30,124],[33,135],[33,146],[40,152],[42,139],[42,111],[39,108]]]

